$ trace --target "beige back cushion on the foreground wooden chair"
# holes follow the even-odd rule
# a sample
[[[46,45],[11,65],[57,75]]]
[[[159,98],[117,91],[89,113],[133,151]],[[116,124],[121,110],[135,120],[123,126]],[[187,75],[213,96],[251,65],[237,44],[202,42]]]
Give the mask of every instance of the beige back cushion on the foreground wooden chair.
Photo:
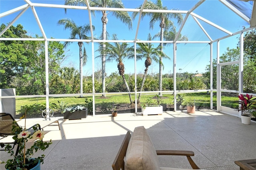
[[[156,149],[144,127],[134,129],[124,158],[124,169],[160,170]]]

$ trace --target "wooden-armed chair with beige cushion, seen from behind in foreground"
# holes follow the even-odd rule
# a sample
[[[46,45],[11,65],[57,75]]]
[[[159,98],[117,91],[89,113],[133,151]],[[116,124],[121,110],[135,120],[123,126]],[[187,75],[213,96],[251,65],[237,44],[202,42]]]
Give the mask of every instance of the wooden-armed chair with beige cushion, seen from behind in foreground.
[[[190,156],[194,152],[185,150],[156,150],[144,127],[136,127],[132,136],[128,131],[112,164],[113,170],[181,170],[161,168],[157,155],[182,155],[188,158],[193,169],[200,169]],[[184,169],[183,169],[184,170]]]

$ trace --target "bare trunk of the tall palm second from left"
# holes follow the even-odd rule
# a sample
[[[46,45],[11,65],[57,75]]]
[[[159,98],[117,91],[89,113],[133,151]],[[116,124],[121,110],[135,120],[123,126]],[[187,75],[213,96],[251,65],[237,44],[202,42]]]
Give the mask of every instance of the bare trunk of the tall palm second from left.
[[[106,24],[108,23],[108,18],[106,15],[106,12],[103,13],[103,16],[101,18],[102,21],[102,40],[106,40]],[[106,97],[105,93],[105,89],[106,89],[106,85],[105,85],[105,74],[106,74],[106,68],[105,68],[105,63],[106,63],[106,53],[105,53],[105,49],[106,49],[106,44],[102,44],[102,96]]]

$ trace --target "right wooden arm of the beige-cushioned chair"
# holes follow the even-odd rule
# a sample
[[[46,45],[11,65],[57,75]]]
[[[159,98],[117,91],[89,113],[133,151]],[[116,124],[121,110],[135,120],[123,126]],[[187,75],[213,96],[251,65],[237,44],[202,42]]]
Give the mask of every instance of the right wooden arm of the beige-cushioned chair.
[[[196,165],[196,163],[192,160],[190,156],[194,156],[193,151],[188,150],[156,150],[157,155],[180,155],[180,156],[186,156],[188,159],[188,162],[190,163],[191,167],[193,169],[200,169]]]

